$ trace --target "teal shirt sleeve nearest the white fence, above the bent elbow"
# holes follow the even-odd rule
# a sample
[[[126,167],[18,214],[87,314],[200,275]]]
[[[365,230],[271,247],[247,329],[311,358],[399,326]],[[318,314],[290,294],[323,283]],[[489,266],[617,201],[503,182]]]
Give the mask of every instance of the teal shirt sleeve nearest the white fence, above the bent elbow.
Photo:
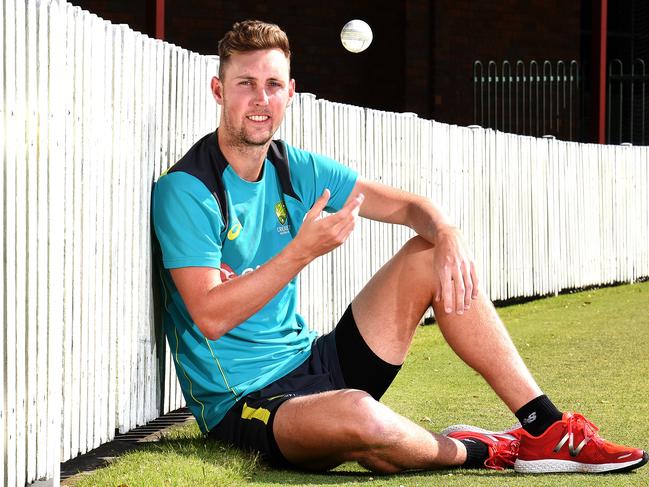
[[[152,216],[165,268],[220,267],[223,218],[200,180],[183,172],[162,176],[153,189]]]

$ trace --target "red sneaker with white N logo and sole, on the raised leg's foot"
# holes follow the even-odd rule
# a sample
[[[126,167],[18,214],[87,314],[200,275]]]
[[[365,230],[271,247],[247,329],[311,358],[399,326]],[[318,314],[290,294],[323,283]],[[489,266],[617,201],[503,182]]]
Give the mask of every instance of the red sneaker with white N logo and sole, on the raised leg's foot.
[[[606,441],[598,429],[581,414],[564,413],[541,436],[523,432],[514,469],[520,473],[628,472],[647,463],[645,451]]]

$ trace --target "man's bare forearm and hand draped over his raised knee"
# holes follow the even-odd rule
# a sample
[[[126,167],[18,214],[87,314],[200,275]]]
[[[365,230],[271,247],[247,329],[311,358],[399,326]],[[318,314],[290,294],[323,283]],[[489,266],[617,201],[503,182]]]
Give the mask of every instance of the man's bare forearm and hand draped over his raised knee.
[[[447,313],[462,314],[478,296],[478,277],[469,249],[459,229],[428,198],[374,181],[358,178],[349,196],[351,201],[363,193],[360,216],[385,223],[405,225],[435,245],[432,276],[438,279]]]

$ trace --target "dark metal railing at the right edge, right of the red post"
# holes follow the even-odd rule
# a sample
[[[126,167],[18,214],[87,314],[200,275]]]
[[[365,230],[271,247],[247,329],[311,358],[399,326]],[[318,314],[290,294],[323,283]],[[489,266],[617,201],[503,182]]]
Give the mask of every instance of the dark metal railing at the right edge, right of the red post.
[[[613,59],[609,63],[606,106],[607,144],[646,145],[649,142],[646,110],[648,81],[649,75],[643,59],[634,59],[630,71],[625,71],[619,59]]]

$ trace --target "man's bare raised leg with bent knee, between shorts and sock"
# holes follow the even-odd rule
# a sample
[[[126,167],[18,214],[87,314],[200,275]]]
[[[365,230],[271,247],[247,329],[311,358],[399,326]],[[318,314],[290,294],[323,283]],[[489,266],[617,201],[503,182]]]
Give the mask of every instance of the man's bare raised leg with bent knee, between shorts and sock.
[[[433,246],[409,240],[352,302],[354,318],[372,351],[391,364],[405,360],[421,317],[432,304],[444,338],[478,371],[512,410],[542,394],[483,293],[463,314],[446,313],[434,302]]]

